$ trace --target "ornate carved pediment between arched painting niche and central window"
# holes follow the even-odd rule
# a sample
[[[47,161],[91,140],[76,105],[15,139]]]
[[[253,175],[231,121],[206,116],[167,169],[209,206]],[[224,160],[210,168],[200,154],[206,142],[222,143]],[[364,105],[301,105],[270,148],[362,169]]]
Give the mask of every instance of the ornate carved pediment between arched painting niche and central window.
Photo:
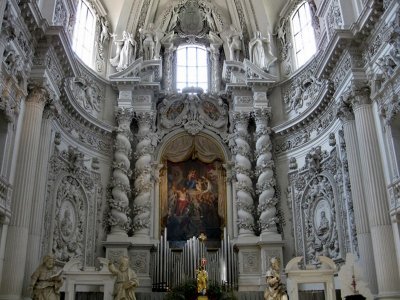
[[[183,127],[192,135],[207,128],[224,136],[228,129],[228,107],[211,95],[174,94],[164,98],[158,110],[161,135]]]

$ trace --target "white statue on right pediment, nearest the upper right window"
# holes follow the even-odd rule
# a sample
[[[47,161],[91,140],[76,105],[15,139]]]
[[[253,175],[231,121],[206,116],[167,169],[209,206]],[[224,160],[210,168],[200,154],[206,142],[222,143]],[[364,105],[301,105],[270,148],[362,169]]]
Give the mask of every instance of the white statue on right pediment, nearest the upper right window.
[[[254,37],[249,42],[250,60],[261,69],[269,70],[276,57],[271,53],[271,42],[261,35],[260,31],[254,33]]]

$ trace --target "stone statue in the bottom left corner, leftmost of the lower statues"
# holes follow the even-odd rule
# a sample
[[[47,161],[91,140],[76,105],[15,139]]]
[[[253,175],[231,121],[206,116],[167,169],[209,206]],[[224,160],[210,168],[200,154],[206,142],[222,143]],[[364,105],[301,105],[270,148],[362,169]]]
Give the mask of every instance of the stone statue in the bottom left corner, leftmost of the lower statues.
[[[63,284],[62,270],[55,267],[52,255],[46,255],[42,264],[31,276],[29,291],[33,300],[60,300],[60,288]]]

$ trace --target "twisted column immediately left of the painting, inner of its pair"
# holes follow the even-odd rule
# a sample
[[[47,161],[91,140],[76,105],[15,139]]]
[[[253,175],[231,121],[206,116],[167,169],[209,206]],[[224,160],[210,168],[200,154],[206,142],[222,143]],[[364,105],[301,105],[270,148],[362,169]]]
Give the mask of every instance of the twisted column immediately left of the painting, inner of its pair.
[[[154,134],[153,112],[136,113],[139,131],[135,152],[135,200],[133,201],[133,235],[148,237],[150,234],[151,189],[153,187]]]

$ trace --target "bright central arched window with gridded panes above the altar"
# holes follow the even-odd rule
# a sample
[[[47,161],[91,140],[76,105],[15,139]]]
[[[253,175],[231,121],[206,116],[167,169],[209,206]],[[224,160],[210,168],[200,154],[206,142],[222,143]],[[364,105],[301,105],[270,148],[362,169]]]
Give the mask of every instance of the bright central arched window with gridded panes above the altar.
[[[200,87],[208,90],[207,51],[199,46],[183,46],[176,51],[176,89]]]

